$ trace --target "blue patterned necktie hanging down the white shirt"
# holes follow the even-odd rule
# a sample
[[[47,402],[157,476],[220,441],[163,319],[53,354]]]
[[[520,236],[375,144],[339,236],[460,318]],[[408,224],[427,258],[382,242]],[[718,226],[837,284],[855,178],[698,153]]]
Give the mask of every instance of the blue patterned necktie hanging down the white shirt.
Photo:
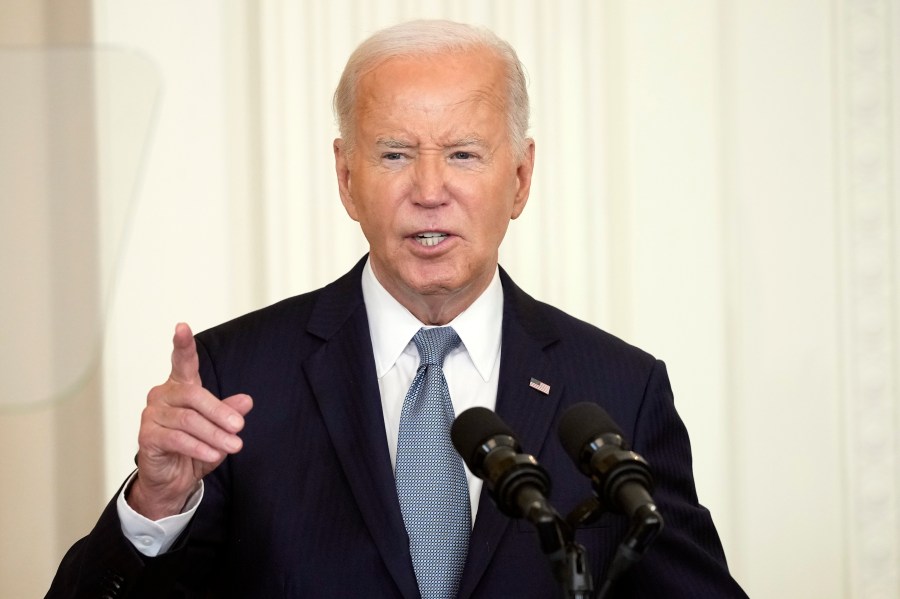
[[[403,400],[397,441],[397,495],[423,599],[456,597],[472,520],[462,458],[450,441],[453,404],[444,358],[460,339],[451,327],[420,329],[421,358]]]

